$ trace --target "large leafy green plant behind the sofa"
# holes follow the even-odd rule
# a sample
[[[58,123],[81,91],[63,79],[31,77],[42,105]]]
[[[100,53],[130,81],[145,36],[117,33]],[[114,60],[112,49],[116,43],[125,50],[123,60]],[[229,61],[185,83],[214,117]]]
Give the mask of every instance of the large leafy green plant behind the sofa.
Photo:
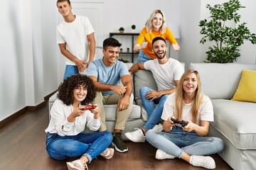
[[[256,43],[256,36],[254,33],[250,33],[245,26],[246,23],[236,25],[235,28],[225,25],[227,21],[239,23],[241,16],[237,11],[245,6],[242,6],[239,0],[230,0],[215,6],[207,4],[206,8],[210,10],[210,17],[209,21],[205,19],[199,22],[200,33],[203,35],[200,43],[204,44],[206,41],[210,41],[215,44],[208,47],[205,62],[235,62],[240,57],[239,47],[244,40],[250,40],[252,44]]]

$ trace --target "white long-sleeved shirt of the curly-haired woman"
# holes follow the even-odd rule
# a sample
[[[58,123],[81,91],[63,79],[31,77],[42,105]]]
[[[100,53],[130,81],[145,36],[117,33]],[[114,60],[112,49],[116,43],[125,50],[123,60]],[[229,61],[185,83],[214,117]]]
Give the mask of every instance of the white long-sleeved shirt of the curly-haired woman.
[[[58,133],[60,136],[65,136],[78,135],[78,133],[85,130],[85,125],[87,125],[87,127],[93,131],[100,128],[100,118],[93,118],[93,113],[90,111],[85,111],[83,115],[75,118],[74,123],[69,123],[67,118],[73,109],[74,108],[72,105],[67,106],[63,103],[63,101],[57,99],[53,103],[53,107],[50,109],[50,123],[45,131],[50,133]]]

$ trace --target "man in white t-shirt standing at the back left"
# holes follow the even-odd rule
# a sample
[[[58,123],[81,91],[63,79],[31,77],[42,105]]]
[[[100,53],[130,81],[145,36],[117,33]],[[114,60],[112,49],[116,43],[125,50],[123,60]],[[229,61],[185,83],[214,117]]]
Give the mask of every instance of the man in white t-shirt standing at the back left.
[[[84,72],[95,57],[95,35],[86,16],[72,13],[69,0],[58,0],[57,7],[64,21],[57,26],[57,43],[67,58],[64,79]]]

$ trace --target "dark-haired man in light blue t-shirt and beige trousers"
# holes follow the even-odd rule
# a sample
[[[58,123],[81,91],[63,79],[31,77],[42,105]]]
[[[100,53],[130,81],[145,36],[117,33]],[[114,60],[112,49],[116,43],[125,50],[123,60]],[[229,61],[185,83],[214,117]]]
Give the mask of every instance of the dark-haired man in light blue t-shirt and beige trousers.
[[[117,120],[113,132],[113,145],[118,152],[127,152],[128,147],[122,141],[121,132],[132,112],[132,77],[124,62],[117,60],[121,44],[114,38],[103,41],[103,58],[90,63],[87,76],[94,82],[97,96],[92,104],[98,104],[102,124],[100,132],[107,130],[103,105],[117,104]],[[120,85],[122,81],[123,85]],[[111,146],[110,146],[111,147]]]

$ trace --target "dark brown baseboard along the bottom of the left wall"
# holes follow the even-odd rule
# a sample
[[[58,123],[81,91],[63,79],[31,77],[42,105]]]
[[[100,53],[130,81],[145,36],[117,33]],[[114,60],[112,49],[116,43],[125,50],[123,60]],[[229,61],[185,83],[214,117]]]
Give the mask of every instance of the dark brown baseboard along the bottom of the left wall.
[[[50,96],[53,96],[53,94],[55,94],[56,91],[53,91],[52,93],[48,94],[47,96],[45,96],[43,99],[44,101],[42,103],[39,103],[36,106],[26,106],[24,108],[21,108],[21,110],[16,111],[16,113],[9,115],[9,117],[5,118],[4,120],[0,121],[0,128],[3,127],[4,125],[10,123],[12,120],[14,120],[15,118],[18,118],[19,115],[22,115],[24,113],[26,113],[27,111],[36,111],[39,108],[43,108],[43,106],[46,106],[46,103],[48,101],[48,99],[50,98]]]

